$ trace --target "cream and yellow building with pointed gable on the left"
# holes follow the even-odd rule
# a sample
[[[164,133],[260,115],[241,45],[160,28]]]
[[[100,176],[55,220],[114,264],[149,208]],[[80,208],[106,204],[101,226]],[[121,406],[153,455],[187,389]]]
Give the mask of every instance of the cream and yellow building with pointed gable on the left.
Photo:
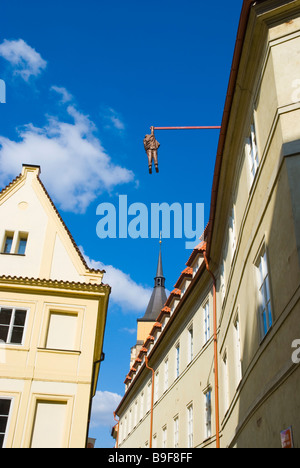
[[[84,448],[110,288],[39,173],[0,193],[0,447]]]

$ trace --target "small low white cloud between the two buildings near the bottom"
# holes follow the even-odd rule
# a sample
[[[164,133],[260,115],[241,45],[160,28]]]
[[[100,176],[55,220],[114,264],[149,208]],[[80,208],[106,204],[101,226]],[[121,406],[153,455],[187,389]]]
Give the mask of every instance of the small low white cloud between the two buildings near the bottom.
[[[114,411],[117,409],[122,397],[117,393],[97,391],[93,398],[91,428],[99,426],[113,427]]]

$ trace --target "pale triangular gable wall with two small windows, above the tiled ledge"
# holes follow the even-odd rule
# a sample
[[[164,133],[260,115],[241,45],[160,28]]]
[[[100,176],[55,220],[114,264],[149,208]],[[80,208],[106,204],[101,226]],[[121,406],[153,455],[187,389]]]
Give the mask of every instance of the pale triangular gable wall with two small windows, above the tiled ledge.
[[[23,168],[25,179],[0,197],[0,276],[86,282],[85,265],[37,180],[39,169]],[[10,254],[3,253],[14,233]],[[20,232],[28,233],[25,255],[17,255]]]

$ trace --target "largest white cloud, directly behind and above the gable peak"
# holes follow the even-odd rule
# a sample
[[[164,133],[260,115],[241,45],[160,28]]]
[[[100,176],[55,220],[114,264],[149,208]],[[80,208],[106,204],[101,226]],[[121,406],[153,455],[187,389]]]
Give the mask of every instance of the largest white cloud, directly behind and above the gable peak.
[[[66,99],[64,92],[60,89]],[[54,202],[65,211],[84,213],[101,192],[133,181],[134,174],[112,162],[88,116],[69,105],[67,117],[70,122],[48,117],[43,128],[28,124],[18,130],[17,141],[0,136],[0,185],[14,178],[23,163],[38,164]]]

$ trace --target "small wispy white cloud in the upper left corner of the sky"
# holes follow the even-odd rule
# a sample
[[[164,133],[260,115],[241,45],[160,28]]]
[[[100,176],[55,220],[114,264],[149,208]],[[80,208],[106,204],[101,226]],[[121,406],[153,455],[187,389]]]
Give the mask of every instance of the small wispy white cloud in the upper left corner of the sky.
[[[0,44],[0,56],[11,64],[14,74],[20,75],[25,81],[32,76],[38,76],[47,66],[41,55],[23,39],[5,39]]]

